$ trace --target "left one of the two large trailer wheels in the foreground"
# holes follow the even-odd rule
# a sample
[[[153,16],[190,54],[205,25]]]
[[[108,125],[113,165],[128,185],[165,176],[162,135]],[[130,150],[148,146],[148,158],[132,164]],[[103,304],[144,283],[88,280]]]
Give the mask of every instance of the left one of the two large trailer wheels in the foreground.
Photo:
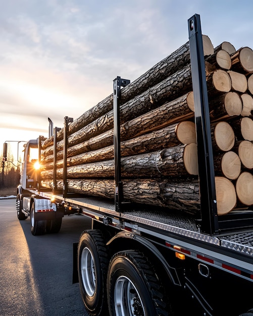
[[[90,315],[107,315],[108,255],[99,230],[85,231],[78,244],[78,278],[81,296]]]

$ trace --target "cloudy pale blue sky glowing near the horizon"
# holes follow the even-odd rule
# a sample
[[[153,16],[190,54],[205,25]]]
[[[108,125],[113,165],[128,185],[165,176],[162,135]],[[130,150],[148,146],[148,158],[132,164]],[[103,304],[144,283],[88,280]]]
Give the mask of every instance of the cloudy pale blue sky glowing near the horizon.
[[[188,41],[200,15],[214,47],[253,48],[253,1],[0,0],[0,156],[3,143],[48,136],[137,79]],[[20,143],[22,144],[22,143]],[[21,148],[22,150],[22,148]]]

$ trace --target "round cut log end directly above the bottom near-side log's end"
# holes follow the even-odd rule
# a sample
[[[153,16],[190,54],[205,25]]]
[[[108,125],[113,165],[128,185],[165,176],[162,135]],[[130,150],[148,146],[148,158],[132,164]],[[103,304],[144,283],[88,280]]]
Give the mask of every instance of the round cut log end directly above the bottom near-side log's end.
[[[241,172],[241,161],[238,154],[234,151],[227,151],[222,157],[221,169],[228,179],[237,179]]]

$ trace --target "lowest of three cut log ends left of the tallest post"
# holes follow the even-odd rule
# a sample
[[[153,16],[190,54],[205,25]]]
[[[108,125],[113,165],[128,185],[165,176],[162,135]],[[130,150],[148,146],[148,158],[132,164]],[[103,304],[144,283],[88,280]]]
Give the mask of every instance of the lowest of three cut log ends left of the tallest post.
[[[192,143],[184,148],[183,154],[184,167],[188,174],[198,175],[198,162],[197,162],[197,145]]]

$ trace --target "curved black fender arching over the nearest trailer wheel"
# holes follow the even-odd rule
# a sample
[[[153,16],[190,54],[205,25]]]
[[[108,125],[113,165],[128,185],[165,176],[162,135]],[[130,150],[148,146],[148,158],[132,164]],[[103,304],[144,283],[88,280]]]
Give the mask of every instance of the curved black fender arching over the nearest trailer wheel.
[[[119,241],[119,239],[121,239],[121,238],[131,239],[134,242],[144,246],[144,248],[146,248],[149,252],[151,252],[157,258],[157,260],[160,262],[160,264],[163,266],[163,268],[164,268],[165,272],[167,273],[172,284],[181,286],[176,269],[172,268],[168,264],[168,262],[166,261],[166,259],[162,255],[162,253],[157,249],[157,247],[153,243],[148,241],[147,239],[145,239],[139,235],[135,235],[133,233],[121,231],[117,235],[115,235],[112,239],[110,239],[106,245],[110,246],[113,243],[115,243],[116,241]]]

